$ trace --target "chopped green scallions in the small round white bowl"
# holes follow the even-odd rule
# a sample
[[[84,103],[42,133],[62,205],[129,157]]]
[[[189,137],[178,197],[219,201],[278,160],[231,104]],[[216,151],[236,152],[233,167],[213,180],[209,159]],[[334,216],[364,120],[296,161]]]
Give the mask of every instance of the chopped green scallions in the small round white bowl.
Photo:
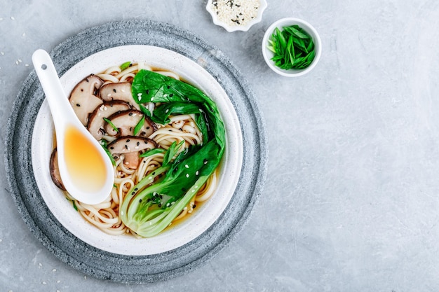
[[[274,53],[271,60],[276,67],[285,70],[305,69],[316,55],[312,37],[298,25],[283,27],[282,31],[276,27],[267,48]]]

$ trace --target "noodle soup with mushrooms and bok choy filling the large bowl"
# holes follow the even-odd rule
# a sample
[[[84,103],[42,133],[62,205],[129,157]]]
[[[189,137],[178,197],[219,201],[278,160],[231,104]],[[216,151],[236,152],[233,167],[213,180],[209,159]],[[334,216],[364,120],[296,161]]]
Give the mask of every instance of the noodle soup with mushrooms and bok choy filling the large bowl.
[[[155,236],[215,192],[224,123],[215,102],[174,72],[126,62],[87,76],[69,100],[112,159],[114,188],[95,205],[64,193],[103,232]],[[52,157],[50,173],[62,188],[56,148]]]

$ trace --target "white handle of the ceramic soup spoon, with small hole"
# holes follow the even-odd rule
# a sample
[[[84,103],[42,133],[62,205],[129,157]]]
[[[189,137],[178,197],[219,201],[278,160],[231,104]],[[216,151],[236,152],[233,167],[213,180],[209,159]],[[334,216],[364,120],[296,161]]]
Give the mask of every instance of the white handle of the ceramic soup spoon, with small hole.
[[[76,120],[50,55],[45,50],[36,50],[32,55],[32,63],[46,95],[53,120],[57,122]],[[72,110],[69,111],[69,109]],[[55,124],[55,130],[62,126]]]

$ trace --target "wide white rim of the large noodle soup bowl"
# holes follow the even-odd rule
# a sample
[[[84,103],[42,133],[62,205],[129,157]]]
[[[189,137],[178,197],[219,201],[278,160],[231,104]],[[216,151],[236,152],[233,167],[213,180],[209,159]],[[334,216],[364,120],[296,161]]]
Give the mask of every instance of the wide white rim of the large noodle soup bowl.
[[[97,249],[128,256],[147,256],[177,249],[201,235],[215,223],[229,204],[238,184],[243,161],[241,125],[233,104],[221,85],[205,69],[183,55],[154,46],[121,46],[102,50],[78,62],[60,78],[67,95],[76,83],[123,62],[145,62],[151,67],[174,71],[217,104],[224,120],[227,146],[219,165],[219,186],[212,197],[182,223],[155,237],[136,239],[132,235],[108,235],[86,222],[50,179],[49,160],[53,147],[53,122],[46,101],[41,105],[32,135],[34,176],[48,209],[69,232]]]

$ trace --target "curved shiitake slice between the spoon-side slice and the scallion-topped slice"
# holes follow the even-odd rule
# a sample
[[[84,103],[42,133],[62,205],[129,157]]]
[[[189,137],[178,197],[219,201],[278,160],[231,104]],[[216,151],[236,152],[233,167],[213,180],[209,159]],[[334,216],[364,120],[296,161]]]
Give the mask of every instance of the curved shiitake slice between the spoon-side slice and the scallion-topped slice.
[[[95,137],[95,139],[99,141],[100,139],[102,139],[102,136],[105,133],[104,125],[106,122],[104,118],[108,118],[114,113],[117,113],[119,111],[126,111],[128,109],[131,109],[130,104],[121,100],[104,102],[100,106],[97,106],[95,111],[93,111],[93,113],[91,113],[90,117],[88,118],[88,132],[90,132],[93,137]]]

